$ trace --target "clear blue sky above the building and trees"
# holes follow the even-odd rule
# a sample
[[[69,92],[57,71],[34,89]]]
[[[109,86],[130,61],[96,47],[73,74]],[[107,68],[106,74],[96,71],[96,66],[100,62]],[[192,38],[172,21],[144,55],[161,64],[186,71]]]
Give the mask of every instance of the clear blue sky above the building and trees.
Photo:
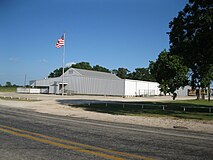
[[[65,63],[148,67],[169,48],[169,22],[187,0],[1,0],[0,84],[43,79]]]

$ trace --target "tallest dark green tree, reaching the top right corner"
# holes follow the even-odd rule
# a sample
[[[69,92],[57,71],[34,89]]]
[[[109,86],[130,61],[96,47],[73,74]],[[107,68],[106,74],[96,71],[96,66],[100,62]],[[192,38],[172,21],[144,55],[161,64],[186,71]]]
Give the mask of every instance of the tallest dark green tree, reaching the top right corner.
[[[213,1],[189,0],[169,27],[171,54],[190,68],[193,88],[206,88],[213,80]]]

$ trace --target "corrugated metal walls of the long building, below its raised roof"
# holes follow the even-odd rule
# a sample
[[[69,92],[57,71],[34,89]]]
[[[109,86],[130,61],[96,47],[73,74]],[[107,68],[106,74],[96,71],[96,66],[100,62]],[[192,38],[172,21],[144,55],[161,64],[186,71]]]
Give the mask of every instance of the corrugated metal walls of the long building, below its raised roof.
[[[36,80],[33,85],[46,87],[49,93],[59,94],[59,83],[62,77]],[[129,79],[102,79],[85,77],[81,75],[64,77],[65,92],[68,94],[91,94],[91,95],[112,95],[112,96],[140,96],[159,95],[159,84],[157,82],[136,81]],[[187,89],[177,90],[179,96],[187,96]]]

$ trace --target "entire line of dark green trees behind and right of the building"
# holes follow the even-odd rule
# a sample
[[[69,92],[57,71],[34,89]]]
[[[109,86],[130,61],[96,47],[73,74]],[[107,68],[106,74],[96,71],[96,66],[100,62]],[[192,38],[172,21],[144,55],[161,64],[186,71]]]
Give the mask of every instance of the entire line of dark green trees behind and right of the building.
[[[192,86],[200,98],[200,90],[209,90],[213,80],[213,1],[189,0],[184,9],[169,23],[169,50],[162,50],[156,61],[147,68],[109,69],[88,62],[72,65],[73,68],[111,72],[120,78],[157,81],[163,93],[174,93],[186,85]],[[65,69],[65,71],[68,68]],[[49,77],[62,74],[62,68],[51,72]],[[204,94],[203,94],[204,98]]]

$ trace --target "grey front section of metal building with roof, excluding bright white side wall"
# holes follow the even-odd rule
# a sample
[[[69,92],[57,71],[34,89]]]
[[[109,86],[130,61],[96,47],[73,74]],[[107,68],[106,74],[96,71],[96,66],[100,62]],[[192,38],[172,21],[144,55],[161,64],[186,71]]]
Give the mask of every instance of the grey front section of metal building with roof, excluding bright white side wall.
[[[122,79],[111,73],[97,72],[70,68],[64,73],[65,93],[92,95],[124,95]],[[31,81],[36,88],[46,88],[48,93],[60,94],[62,90],[62,76]]]

